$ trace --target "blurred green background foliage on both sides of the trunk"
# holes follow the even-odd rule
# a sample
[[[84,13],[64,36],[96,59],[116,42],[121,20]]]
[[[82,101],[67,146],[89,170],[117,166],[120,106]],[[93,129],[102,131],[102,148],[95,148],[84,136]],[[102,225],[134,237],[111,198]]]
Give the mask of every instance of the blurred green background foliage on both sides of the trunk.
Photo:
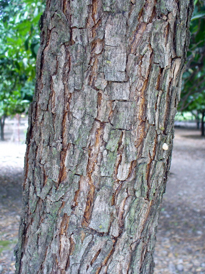
[[[191,41],[182,77],[179,120],[195,119],[204,136],[205,116],[205,1],[195,0]],[[0,0],[0,126],[5,118],[26,113],[35,87],[39,48],[39,19],[45,0]]]

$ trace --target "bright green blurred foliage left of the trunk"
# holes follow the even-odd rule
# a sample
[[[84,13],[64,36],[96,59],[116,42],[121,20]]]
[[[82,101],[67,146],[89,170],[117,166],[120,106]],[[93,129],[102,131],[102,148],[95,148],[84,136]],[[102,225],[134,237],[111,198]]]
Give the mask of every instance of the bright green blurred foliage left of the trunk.
[[[0,117],[22,113],[32,100],[44,7],[40,0],[0,1]]]

